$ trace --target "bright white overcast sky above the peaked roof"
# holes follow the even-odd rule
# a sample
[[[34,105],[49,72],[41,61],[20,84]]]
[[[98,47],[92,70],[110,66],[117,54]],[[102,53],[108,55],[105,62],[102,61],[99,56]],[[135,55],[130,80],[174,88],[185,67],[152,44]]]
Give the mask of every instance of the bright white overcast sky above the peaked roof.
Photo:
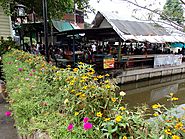
[[[135,0],[130,0],[135,1]],[[139,5],[149,7],[150,9],[162,9],[166,0],[136,0],[138,1]],[[150,5],[151,4],[151,5]],[[98,3],[97,0],[90,0],[90,5],[97,11],[103,12],[116,12],[119,14],[120,17],[124,19],[132,19],[133,16],[137,18],[146,18],[147,12],[145,10],[139,10],[136,13],[133,12],[134,9],[138,9],[138,7],[133,6],[132,4],[128,4],[127,2],[123,2],[123,0],[100,0]],[[85,19],[86,22],[92,23],[95,14],[90,13],[88,14],[88,19]]]

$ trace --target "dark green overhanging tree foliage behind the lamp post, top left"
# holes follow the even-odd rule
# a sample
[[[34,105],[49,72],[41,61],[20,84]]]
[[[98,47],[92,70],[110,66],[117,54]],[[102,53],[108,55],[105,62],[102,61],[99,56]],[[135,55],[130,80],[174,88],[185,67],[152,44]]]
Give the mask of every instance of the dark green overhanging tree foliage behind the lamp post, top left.
[[[89,0],[47,0],[47,3],[49,18],[61,18],[64,13],[72,12],[74,4],[84,11],[90,8]],[[6,14],[13,14],[16,4],[23,4],[27,7],[27,13],[34,10],[42,17],[42,0],[0,0],[0,5]]]

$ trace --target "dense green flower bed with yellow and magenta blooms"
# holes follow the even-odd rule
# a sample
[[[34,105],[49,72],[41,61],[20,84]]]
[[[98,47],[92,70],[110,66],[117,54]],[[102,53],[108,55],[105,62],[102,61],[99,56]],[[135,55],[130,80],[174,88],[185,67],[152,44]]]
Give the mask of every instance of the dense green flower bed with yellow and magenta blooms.
[[[118,87],[109,75],[97,75],[89,65],[59,69],[18,50],[6,53],[3,65],[8,100],[23,138],[36,134],[51,139],[185,137],[183,117],[164,115],[158,127],[146,122],[147,108],[127,110],[125,93],[116,95]],[[153,109],[156,117],[167,110],[160,104]]]

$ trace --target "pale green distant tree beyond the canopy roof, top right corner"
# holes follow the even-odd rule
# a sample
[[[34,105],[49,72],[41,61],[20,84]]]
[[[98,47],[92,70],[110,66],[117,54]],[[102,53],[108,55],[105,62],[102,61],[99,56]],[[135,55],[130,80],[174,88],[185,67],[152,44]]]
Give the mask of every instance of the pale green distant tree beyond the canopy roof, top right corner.
[[[184,22],[183,14],[184,10],[182,3],[179,0],[167,0],[163,7],[161,18],[163,20],[169,18],[172,21],[176,21],[178,24],[182,24]]]

